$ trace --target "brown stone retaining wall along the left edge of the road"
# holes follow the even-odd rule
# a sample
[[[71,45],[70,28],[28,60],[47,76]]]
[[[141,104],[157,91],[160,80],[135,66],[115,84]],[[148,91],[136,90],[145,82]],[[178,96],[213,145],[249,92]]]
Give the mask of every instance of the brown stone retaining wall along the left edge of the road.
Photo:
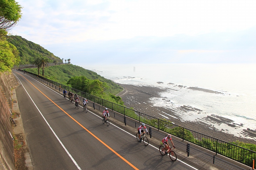
[[[0,73],[0,169],[15,169],[14,145],[9,132],[13,136],[13,127],[10,121],[12,113],[12,87],[17,80],[12,72]]]

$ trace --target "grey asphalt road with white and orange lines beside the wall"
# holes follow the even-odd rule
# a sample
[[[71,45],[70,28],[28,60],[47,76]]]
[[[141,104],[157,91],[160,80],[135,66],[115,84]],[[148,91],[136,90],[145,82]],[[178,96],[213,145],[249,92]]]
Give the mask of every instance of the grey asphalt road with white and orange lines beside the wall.
[[[22,84],[16,96],[34,169],[193,169],[139,143],[128,134],[134,132],[103,124],[99,114],[76,109],[33,78],[14,74]]]

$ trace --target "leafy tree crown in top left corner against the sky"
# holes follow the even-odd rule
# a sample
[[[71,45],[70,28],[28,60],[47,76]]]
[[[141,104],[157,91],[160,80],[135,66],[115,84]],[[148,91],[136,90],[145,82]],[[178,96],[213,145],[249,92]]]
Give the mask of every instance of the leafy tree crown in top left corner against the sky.
[[[9,31],[16,25],[21,18],[21,8],[15,0],[0,0],[0,30]]]

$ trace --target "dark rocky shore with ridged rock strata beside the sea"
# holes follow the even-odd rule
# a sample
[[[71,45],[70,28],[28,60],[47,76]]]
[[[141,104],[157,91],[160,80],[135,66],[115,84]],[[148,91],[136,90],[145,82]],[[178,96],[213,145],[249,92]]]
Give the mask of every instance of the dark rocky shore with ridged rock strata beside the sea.
[[[163,117],[159,113],[166,112],[169,113],[171,116],[168,117],[168,120],[175,123],[175,125],[182,126],[191,130],[194,130],[196,132],[200,132],[202,134],[215,137],[217,139],[226,141],[226,142],[233,142],[236,140],[239,140],[241,142],[245,143],[253,143],[256,144],[256,140],[237,137],[232,134],[225,133],[224,129],[217,130],[215,127],[211,125],[211,122],[217,122],[217,123],[227,123],[227,125],[232,127],[239,127],[242,125],[232,124],[232,120],[220,117],[218,115],[211,115],[207,118],[200,120],[200,121],[181,121],[181,118],[179,117],[179,113],[188,114],[189,111],[196,111],[200,112],[199,109],[193,108],[191,106],[180,106],[175,107],[171,109],[166,109],[164,107],[157,107],[153,106],[153,104],[150,102],[150,98],[152,97],[159,97],[161,92],[164,92],[164,88],[158,88],[153,86],[135,86],[135,85],[128,85],[128,84],[119,84],[124,88],[124,91],[117,94],[122,98],[124,101],[124,104],[127,107],[133,107],[136,111],[154,116],[156,118],[160,119],[167,119],[166,116]],[[198,90],[198,89],[197,89]],[[200,90],[200,89],[199,89]],[[164,98],[163,98],[164,100]],[[244,130],[243,133],[247,136],[255,136],[254,130]]]

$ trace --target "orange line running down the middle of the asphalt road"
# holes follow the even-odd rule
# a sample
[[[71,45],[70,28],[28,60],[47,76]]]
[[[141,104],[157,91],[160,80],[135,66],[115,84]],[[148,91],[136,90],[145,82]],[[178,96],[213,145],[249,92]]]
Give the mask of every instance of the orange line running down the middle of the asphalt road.
[[[20,73],[18,73],[19,75],[21,75]],[[22,75],[21,75],[22,76]],[[24,77],[24,76],[22,76]],[[25,78],[25,77],[24,77]],[[26,79],[26,78],[25,78]],[[28,82],[29,80],[26,79]],[[30,84],[32,84],[31,82],[29,82]],[[32,86],[34,86],[32,84]],[[36,86],[34,86],[38,91],[40,91]],[[40,91],[41,92],[41,91]],[[89,132],[93,137],[95,137],[98,141],[100,141],[103,145],[105,145],[108,149],[110,149],[113,153],[115,153],[117,156],[119,156],[124,162],[126,162],[127,164],[129,164],[131,167],[133,167],[136,170],[139,170],[138,168],[136,168],[132,163],[130,163],[129,161],[127,161],[124,157],[122,157],[120,154],[118,154],[114,149],[110,148],[105,142],[103,142],[102,140],[100,140],[97,136],[95,136],[92,132],[90,132],[88,129],[86,129],[83,125],[81,125],[78,121],[76,121],[72,116],[70,116],[67,112],[65,112],[60,106],[58,106],[54,101],[52,101],[50,98],[48,98],[43,92],[41,92],[47,99],[49,99],[51,102],[53,102],[54,105],[56,105],[57,107],[59,107],[64,113],[66,113],[71,119],[73,119],[76,123],[78,123],[78,125],[80,125],[83,129],[85,129],[87,132]]]

